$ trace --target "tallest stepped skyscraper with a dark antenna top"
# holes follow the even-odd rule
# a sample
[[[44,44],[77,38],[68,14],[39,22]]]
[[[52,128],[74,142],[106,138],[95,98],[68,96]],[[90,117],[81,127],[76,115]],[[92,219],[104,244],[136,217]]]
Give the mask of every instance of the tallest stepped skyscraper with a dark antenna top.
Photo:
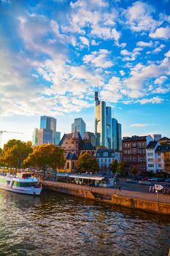
[[[115,151],[122,150],[121,124],[112,118],[112,108],[106,102],[98,100],[98,91],[95,92],[95,136],[96,146],[105,146]]]

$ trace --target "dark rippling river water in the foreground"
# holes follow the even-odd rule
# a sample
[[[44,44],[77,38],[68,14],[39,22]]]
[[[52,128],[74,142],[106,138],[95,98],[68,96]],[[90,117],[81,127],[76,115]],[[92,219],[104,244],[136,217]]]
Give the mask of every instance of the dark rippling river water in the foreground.
[[[55,192],[0,190],[0,255],[168,255],[170,217]]]

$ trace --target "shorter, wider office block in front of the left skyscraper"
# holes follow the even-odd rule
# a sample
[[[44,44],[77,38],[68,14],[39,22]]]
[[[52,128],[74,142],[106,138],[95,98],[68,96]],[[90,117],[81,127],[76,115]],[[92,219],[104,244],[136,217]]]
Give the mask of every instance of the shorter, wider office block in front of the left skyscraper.
[[[38,144],[52,143],[53,140],[53,129],[38,129]]]

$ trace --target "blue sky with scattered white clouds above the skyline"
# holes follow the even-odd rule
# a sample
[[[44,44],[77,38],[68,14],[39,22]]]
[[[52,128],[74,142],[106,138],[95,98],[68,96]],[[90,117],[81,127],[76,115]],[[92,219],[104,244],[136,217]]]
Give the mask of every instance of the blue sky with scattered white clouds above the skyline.
[[[0,35],[2,144],[44,115],[94,132],[97,87],[123,136],[170,137],[169,0],[0,0]]]

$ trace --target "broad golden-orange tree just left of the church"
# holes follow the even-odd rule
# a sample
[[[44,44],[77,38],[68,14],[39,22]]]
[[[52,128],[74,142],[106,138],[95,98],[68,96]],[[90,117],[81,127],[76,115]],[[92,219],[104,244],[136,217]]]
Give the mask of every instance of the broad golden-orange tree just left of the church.
[[[53,144],[35,146],[34,150],[23,161],[23,167],[35,167],[43,170],[44,176],[48,168],[60,170],[65,164],[63,148]]]

